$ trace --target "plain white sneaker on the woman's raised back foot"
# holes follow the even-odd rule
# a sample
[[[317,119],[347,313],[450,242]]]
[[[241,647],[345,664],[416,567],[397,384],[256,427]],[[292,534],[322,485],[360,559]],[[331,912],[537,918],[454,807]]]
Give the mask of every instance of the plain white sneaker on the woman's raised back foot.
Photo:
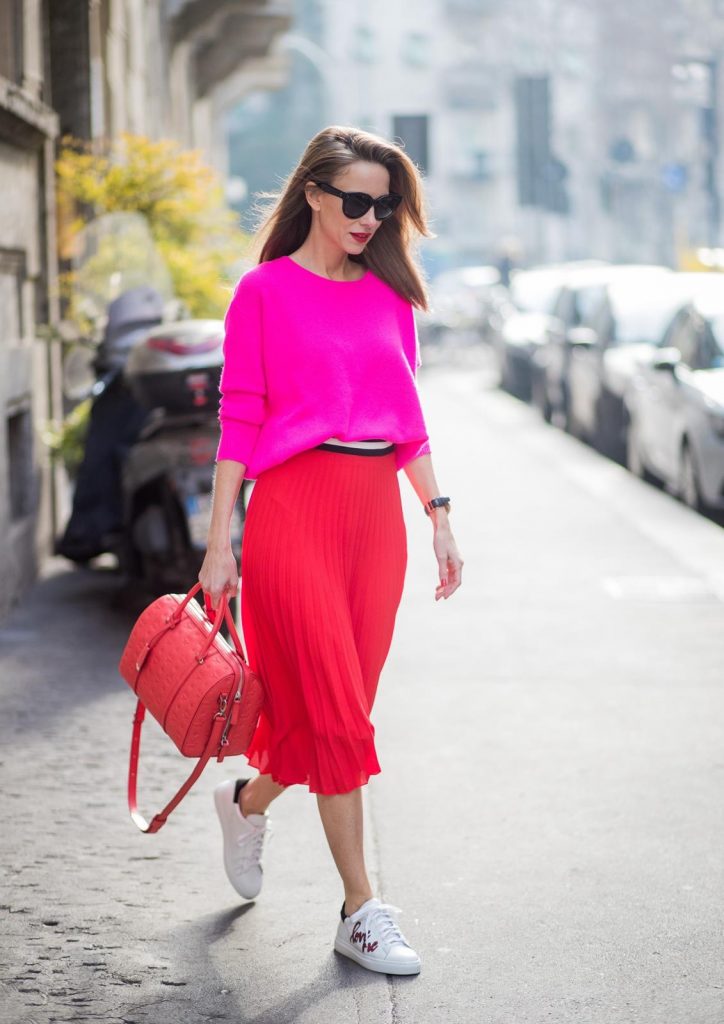
[[[263,881],[264,840],[271,838],[268,814],[242,814],[239,793],[249,779],[227,779],[214,790],[214,804],[223,833],[223,863],[240,896],[254,899]]]

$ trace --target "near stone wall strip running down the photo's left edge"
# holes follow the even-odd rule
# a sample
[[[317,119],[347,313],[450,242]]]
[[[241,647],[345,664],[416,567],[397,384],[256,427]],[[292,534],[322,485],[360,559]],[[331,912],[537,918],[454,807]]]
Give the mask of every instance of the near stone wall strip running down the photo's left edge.
[[[36,0],[5,11],[14,48],[0,66],[0,195],[10,200],[0,204],[0,615],[32,584],[54,525],[54,473],[38,435],[58,403],[56,353],[35,341],[56,281],[47,183],[57,121],[44,102],[42,15]]]

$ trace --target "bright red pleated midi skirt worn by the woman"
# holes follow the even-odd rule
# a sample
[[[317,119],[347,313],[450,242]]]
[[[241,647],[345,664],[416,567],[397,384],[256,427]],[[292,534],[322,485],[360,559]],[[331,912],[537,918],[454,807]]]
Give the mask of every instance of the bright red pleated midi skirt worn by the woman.
[[[261,773],[336,794],[381,771],[370,714],[407,560],[394,451],[309,449],[259,474],[241,575],[265,693],[246,756]]]

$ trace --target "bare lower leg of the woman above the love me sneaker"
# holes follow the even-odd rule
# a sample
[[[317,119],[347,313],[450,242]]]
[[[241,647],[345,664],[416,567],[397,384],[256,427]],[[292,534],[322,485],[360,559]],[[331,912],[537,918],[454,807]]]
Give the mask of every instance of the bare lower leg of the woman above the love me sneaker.
[[[365,868],[361,786],[349,793],[317,793],[316,803],[327,842],[344,885],[345,913],[372,899]]]

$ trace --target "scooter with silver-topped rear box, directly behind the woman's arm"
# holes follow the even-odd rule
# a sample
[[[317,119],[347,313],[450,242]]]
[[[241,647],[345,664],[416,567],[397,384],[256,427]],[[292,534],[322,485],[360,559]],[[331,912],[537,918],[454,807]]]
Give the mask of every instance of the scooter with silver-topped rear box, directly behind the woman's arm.
[[[150,411],[123,464],[129,571],[157,593],[187,590],[206,553],[219,441],[223,322],[189,319],[150,331],[131,351],[128,387]],[[241,549],[244,490],[231,517]]]

